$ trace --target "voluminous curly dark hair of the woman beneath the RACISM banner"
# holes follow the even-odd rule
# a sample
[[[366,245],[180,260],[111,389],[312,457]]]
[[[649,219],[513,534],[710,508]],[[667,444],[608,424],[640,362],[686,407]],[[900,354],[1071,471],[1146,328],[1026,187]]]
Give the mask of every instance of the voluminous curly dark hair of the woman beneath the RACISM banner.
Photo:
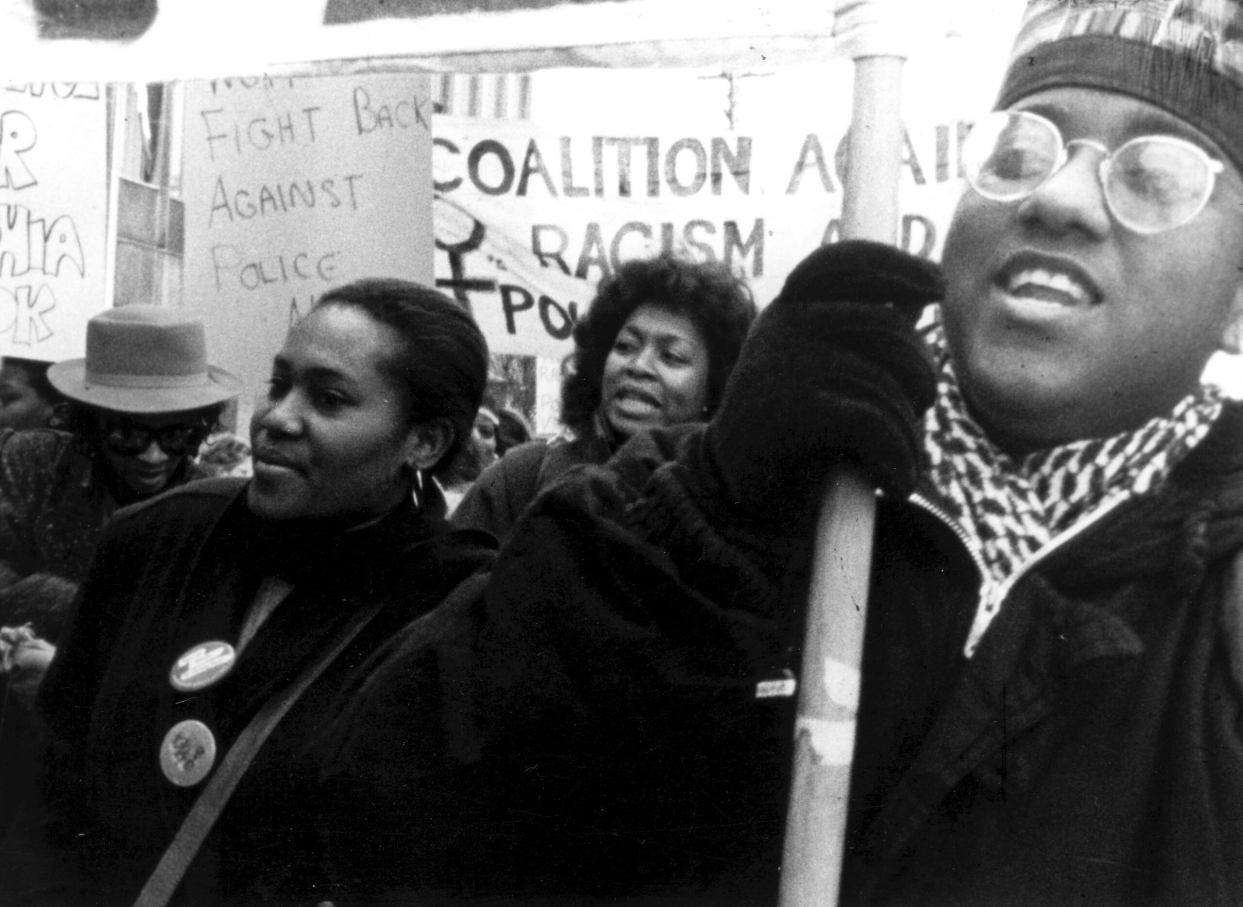
[[[654,303],[686,316],[707,344],[707,411],[721,400],[742,340],[756,317],[743,281],[718,262],[696,262],[664,252],[624,262],[600,281],[595,298],[574,324],[574,352],[561,383],[561,421],[582,436],[600,405],[604,360],[630,314]]]

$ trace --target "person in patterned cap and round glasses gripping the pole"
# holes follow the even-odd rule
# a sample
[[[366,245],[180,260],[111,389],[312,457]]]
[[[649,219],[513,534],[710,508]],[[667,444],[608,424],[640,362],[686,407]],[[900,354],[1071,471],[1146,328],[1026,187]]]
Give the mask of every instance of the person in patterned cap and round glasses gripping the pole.
[[[474,652],[486,867],[776,903],[797,741],[851,767],[842,903],[1238,902],[1243,403],[1202,373],[1243,339],[1239,35],[1238,0],[1035,0],[943,281],[815,250],[706,429],[536,499]],[[859,668],[798,651],[843,461],[884,491]]]

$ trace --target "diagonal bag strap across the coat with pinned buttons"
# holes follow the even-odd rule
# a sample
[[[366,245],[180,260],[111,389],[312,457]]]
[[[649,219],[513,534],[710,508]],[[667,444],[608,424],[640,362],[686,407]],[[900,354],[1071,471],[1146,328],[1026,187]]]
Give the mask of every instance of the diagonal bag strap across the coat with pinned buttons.
[[[314,683],[324,668],[344,651],[346,646],[354,641],[354,637],[372,621],[372,618],[379,614],[383,606],[384,603],[380,601],[358,614],[337,636],[332,647],[316,659],[293,683],[265,702],[264,707],[237,734],[237,739],[234,741],[225,758],[220,760],[220,768],[181,821],[181,827],[177,830],[172,844],[168,845],[168,850],[164,851],[150,878],[147,880],[147,885],[139,892],[134,907],[164,907],[169,902],[185,871],[190,867],[190,862],[199,852],[199,847],[203,846],[208,832],[211,831],[241,777],[246,773],[255,754],[259,753],[259,748],[264,745],[268,734],[298,701],[298,697],[306,692],[307,687]]]

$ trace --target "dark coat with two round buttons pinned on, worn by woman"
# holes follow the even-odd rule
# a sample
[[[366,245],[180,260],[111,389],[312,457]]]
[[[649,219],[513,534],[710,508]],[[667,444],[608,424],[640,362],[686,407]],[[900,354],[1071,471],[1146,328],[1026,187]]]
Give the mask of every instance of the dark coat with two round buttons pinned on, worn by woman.
[[[4,849],[0,900],[132,903],[201,789],[163,777],[165,732],[204,722],[219,765],[254,713],[375,601],[383,609],[260,750],[181,897],[351,903],[400,901],[421,886],[409,875],[421,857],[406,846],[421,804],[389,786],[400,741],[388,737],[390,716],[362,714],[355,698],[389,647],[418,635],[418,619],[488,560],[486,537],[450,533],[413,507],[344,534],[273,532],[250,513],[244,490],[240,480],[194,483],[118,512],[106,531],[40,693],[51,734],[44,796]],[[293,591],[229,676],[177,692],[174,660],[204,641],[235,642],[262,575]],[[433,736],[426,726],[419,733]]]

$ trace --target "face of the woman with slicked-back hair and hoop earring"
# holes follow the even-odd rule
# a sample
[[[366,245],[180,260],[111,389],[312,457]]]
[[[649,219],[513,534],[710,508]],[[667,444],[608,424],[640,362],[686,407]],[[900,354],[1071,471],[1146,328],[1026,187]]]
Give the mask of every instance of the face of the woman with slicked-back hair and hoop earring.
[[[420,431],[380,370],[403,354],[397,332],[346,306],[317,308],[290,330],[250,424],[251,511],[365,519],[409,493],[404,465],[419,460]]]

